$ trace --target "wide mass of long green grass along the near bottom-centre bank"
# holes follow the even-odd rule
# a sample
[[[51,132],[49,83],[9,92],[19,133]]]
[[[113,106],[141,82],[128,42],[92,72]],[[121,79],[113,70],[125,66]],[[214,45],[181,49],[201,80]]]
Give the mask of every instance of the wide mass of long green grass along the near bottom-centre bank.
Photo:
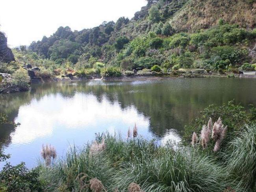
[[[223,192],[228,187],[243,191],[223,165],[199,153],[199,148],[159,146],[155,140],[108,134],[104,144],[98,153],[91,153],[89,144],[80,150],[73,147],[53,168],[43,166],[41,179],[48,190],[90,192],[90,183],[97,181],[109,192],[126,192],[131,183],[145,192]]]

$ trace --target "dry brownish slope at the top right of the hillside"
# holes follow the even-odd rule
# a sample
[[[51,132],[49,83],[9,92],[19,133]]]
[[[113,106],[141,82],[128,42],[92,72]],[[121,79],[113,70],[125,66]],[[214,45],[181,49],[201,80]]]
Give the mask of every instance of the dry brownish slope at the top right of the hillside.
[[[254,0],[191,0],[173,18],[177,31],[195,31],[217,25],[222,18],[244,28],[256,27]]]

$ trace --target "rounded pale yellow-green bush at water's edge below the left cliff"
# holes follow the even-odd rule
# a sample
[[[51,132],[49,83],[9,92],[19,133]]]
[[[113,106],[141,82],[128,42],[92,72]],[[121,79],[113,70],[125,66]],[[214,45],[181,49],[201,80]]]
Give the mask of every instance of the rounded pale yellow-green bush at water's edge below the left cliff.
[[[25,69],[23,68],[18,69],[13,73],[11,78],[12,78],[11,80],[12,85],[29,87],[30,77],[28,76],[28,72]]]

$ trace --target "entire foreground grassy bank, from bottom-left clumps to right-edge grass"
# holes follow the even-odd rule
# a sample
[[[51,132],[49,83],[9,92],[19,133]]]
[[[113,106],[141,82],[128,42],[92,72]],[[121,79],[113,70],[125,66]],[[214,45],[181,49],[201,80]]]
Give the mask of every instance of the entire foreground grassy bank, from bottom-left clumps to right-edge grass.
[[[48,191],[137,191],[129,190],[131,183],[147,192],[253,191],[256,126],[245,126],[242,133],[224,152],[212,155],[202,152],[200,144],[177,148],[107,135],[102,150],[95,151],[94,144],[73,148],[52,168],[42,166],[40,180]],[[102,189],[92,187],[94,178]]]

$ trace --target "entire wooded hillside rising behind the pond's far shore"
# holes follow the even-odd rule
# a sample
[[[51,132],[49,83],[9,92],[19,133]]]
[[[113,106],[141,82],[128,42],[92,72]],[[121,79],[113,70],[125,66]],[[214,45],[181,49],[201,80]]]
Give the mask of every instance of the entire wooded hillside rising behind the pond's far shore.
[[[39,78],[254,70],[255,7],[254,0],[148,0],[131,20],[81,31],[59,27],[14,53],[18,63],[41,68]]]

